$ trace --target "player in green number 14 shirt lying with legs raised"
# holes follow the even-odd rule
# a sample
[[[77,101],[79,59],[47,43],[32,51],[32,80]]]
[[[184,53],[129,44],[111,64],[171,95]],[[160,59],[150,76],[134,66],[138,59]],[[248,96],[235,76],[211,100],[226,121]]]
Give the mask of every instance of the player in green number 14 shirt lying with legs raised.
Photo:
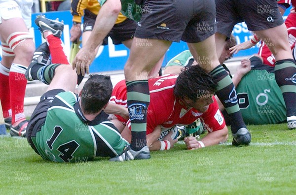
[[[63,24],[39,17],[37,26],[49,44],[52,62],[47,64],[49,51],[40,45],[26,72],[28,80],[49,84],[40,98],[28,124],[27,139],[44,160],[54,162],[89,161],[95,157],[121,155],[129,143],[107,119],[103,111],[112,93],[109,76],[92,75],[80,97],[74,94],[76,70],[69,65],[60,40]],[[141,157],[142,153],[126,153],[124,160]],[[147,155],[147,154],[146,154]]]

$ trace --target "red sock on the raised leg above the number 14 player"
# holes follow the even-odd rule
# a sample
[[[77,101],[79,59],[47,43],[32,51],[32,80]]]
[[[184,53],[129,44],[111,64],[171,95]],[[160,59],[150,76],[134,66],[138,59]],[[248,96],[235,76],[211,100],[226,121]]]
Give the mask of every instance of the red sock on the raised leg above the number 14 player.
[[[64,65],[70,65],[70,62],[65,55],[63,43],[59,37],[55,37],[53,34],[50,34],[46,37],[48,47],[51,54],[52,63],[60,63]]]

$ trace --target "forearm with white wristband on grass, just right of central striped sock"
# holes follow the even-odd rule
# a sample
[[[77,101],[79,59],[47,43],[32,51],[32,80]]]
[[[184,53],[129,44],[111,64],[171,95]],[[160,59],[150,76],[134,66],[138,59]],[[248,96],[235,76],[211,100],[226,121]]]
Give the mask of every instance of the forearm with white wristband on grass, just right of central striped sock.
[[[178,141],[178,139],[172,139],[172,131],[170,131],[164,138],[163,141],[159,141],[158,138],[160,136],[160,125],[157,126],[153,132],[147,135],[147,146],[150,151],[156,150],[169,150],[174,147],[174,144]]]

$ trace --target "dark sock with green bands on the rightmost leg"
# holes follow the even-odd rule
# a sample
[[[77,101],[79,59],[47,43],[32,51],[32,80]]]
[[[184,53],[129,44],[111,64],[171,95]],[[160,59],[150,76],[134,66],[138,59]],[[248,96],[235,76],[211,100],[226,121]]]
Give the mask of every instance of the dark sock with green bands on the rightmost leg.
[[[275,80],[287,107],[287,117],[296,116],[296,65],[292,59],[280,60],[274,67]]]

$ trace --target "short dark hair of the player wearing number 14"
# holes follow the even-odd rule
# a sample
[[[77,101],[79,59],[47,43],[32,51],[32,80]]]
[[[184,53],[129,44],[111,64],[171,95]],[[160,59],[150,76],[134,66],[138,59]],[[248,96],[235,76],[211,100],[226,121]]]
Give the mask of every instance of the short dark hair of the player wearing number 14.
[[[110,76],[90,75],[81,93],[81,108],[85,114],[94,114],[101,110],[112,94]]]

